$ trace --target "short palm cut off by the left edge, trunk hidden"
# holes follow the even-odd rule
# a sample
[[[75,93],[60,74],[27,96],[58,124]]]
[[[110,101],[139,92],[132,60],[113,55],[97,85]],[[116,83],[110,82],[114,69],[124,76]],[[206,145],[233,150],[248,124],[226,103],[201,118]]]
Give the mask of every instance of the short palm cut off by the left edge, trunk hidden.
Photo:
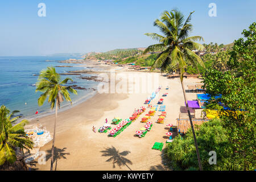
[[[0,107],[0,166],[2,164],[13,164],[16,161],[16,150],[23,151],[33,148],[33,142],[24,132],[24,126],[28,121],[23,119],[13,125],[19,117],[12,118],[13,113],[5,105]]]

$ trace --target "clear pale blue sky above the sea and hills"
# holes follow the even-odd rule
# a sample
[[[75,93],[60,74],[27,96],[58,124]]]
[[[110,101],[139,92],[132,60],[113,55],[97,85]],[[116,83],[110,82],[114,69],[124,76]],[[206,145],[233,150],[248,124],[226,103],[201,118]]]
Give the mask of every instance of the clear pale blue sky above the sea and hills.
[[[46,4],[46,17],[38,4]],[[209,3],[217,17],[210,17]],[[205,43],[232,43],[256,21],[256,1],[231,0],[23,0],[0,3],[0,56],[36,56],[52,53],[109,51],[154,44],[146,32],[164,10],[191,11],[193,31]]]

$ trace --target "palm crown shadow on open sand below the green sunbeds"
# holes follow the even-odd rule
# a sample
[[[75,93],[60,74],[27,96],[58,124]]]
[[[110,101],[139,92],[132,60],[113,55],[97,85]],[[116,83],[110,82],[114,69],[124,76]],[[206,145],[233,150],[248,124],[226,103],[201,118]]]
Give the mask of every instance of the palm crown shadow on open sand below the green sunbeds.
[[[106,162],[113,162],[113,168],[115,168],[115,164],[121,168],[121,166],[126,166],[131,170],[131,168],[127,164],[133,164],[129,159],[126,159],[124,156],[128,155],[130,151],[122,151],[119,152],[115,147],[112,148],[108,147],[105,148],[104,151],[101,151],[103,154],[102,156],[110,156]],[[133,170],[131,170],[133,171]]]

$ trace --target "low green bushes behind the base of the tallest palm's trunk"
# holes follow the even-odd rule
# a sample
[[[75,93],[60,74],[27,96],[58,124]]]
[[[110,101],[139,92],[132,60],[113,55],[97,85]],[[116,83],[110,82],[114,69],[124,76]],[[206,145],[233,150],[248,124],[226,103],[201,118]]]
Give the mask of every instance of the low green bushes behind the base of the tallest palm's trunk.
[[[214,119],[203,125],[195,126],[196,138],[199,146],[201,163],[204,170],[230,170],[234,169],[230,160],[228,133],[221,125],[221,122]],[[179,135],[173,142],[167,145],[167,157],[171,160],[171,168],[174,170],[198,170],[196,147],[193,140],[192,130],[189,129],[184,137]],[[209,152],[215,151],[217,154],[217,164],[210,165]],[[230,162],[230,163],[229,163]],[[229,163],[229,166],[226,164]]]

